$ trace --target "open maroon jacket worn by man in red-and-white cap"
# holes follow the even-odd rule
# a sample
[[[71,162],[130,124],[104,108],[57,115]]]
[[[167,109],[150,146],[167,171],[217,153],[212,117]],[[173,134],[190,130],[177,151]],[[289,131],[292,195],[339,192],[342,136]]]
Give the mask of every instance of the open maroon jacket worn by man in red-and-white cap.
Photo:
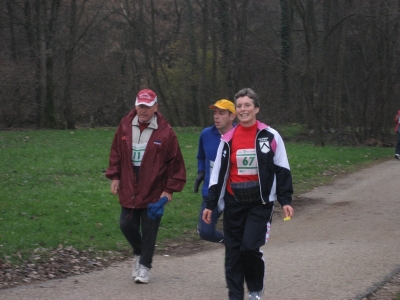
[[[178,138],[161,113],[156,112],[158,128],[153,131],[136,176],[132,165],[132,120],[136,110],[125,116],[115,133],[106,177],[119,179],[119,203],[126,208],[146,208],[159,200],[162,192],[180,192],[186,183],[186,170]]]

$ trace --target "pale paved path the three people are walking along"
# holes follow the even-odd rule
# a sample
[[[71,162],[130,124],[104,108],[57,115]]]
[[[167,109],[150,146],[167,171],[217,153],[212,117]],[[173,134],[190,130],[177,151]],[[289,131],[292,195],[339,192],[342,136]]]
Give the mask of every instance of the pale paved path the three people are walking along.
[[[295,199],[292,221],[278,213],[263,248],[263,299],[364,299],[399,271],[399,168],[390,160],[306,193]],[[134,284],[131,262],[122,262],[1,290],[0,299],[227,299],[223,261],[222,247],[157,255],[148,285]]]

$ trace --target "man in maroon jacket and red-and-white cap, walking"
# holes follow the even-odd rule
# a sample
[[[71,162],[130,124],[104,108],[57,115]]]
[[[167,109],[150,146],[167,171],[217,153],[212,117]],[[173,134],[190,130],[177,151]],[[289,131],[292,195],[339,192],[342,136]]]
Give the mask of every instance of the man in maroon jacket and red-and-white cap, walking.
[[[177,136],[158,111],[157,95],[141,90],[135,108],[120,122],[111,145],[106,177],[121,205],[120,228],[132,246],[136,283],[148,283],[161,217],[147,207],[182,191],[186,171]]]

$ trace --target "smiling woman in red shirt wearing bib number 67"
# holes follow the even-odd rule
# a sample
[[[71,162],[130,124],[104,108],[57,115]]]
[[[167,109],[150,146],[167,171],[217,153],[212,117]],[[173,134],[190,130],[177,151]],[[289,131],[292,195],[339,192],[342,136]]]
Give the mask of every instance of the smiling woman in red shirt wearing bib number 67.
[[[279,133],[257,121],[257,94],[250,88],[235,95],[239,124],[221,139],[210,178],[203,221],[211,223],[216,206],[224,209],[225,277],[229,299],[261,299],[274,201],[285,218],[293,217],[292,176]],[[290,258],[285,257],[285,262]]]

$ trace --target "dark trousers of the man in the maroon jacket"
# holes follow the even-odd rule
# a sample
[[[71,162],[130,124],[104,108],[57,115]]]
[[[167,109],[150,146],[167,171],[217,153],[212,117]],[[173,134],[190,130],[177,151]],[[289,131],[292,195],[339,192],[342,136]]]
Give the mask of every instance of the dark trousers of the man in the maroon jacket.
[[[151,268],[158,228],[161,218],[152,220],[147,209],[121,207],[119,226],[126,240],[131,244],[134,255],[140,255],[140,264]]]

